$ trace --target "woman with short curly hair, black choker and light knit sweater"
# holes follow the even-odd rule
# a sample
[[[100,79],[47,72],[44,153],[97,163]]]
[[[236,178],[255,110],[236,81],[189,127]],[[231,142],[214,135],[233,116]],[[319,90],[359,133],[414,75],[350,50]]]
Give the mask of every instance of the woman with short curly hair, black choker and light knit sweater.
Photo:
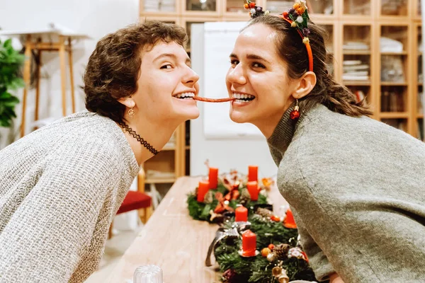
[[[0,151],[0,282],[84,282],[140,164],[198,117],[183,28],[106,35],[84,75],[86,108]]]

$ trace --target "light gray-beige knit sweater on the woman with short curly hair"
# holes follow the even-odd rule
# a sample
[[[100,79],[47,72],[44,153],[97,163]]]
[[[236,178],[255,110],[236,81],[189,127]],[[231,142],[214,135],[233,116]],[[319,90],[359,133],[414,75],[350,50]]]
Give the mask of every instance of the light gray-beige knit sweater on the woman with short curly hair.
[[[139,166],[120,127],[79,112],[0,151],[0,282],[84,282]]]

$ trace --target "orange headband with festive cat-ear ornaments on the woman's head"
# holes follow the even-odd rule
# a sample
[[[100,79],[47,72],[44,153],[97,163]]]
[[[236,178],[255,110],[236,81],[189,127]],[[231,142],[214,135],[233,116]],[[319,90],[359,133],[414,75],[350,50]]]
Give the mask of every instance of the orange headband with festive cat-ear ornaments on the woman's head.
[[[244,4],[246,9],[249,9],[249,16],[251,18],[256,18],[258,16],[268,15],[269,11],[263,11],[263,8],[256,6],[255,2],[247,0],[247,3]],[[287,21],[291,27],[297,28],[297,32],[302,38],[302,43],[305,45],[308,55],[308,70],[313,71],[313,52],[312,47],[310,46],[310,40],[308,35],[310,35],[310,30],[307,27],[307,21],[310,19],[307,12],[307,4],[305,0],[297,0],[292,8],[288,11],[283,12],[278,15],[283,20]]]

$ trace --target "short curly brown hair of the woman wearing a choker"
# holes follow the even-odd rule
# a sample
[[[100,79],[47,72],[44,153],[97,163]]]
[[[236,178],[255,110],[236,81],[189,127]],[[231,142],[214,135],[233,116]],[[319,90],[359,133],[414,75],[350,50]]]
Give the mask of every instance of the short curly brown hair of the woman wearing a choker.
[[[183,46],[187,38],[181,26],[161,21],[129,25],[103,37],[84,73],[87,110],[123,122],[125,105],[118,99],[137,91],[143,48],[154,47],[160,40]]]

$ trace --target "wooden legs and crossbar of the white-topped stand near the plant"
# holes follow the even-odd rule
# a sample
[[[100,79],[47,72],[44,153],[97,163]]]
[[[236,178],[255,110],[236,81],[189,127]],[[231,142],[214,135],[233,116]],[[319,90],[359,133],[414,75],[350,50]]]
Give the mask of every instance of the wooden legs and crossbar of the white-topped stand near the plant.
[[[37,41],[33,41],[32,35],[26,35],[26,62],[23,67],[23,81],[25,82],[25,88],[23,89],[23,98],[22,98],[22,123],[21,123],[21,137],[25,135],[25,125],[26,125],[26,99],[28,95],[28,88],[30,86],[30,69],[31,69],[31,54],[33,51],[36,52],[37,57],[37,69],[36,76],[37,81],[35,84],[35,113],[34,120],[38,120],[38,108],[40,100],[40,67],[41,67],[41,54],[42,51],[57,51],[59,52],[60,57],[60,76],[61,76],[61,86],[62,86],[62,115],[67,115],[67,98],[66,98],[66,59],[65,52],[68,52],[69,59],[69,76],[71,83],[71,101],[72,101],[72,112],[75,112],[75,98],[74,98],[74,71],[72,67],[72,45],[71,45],[71,36],[59,35],[58,42],[42,42],[41,37],[38,37]]]

